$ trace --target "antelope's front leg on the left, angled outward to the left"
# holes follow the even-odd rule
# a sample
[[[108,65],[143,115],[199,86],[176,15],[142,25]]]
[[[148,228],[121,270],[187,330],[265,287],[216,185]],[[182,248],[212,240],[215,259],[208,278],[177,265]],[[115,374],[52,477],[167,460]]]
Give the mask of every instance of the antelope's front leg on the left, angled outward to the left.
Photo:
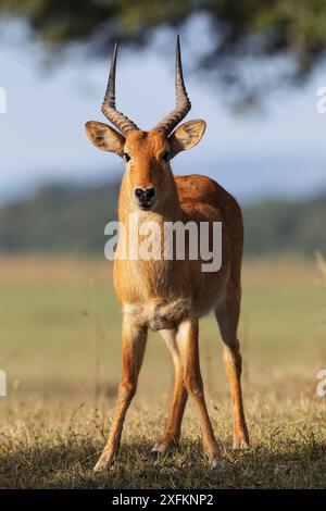
[[[117,454],[125,416],[136,394],[147,340],[147,328],[135,325],[128,314],[123,317],[122,379],[115,404],[114,419],[103,452],[95,466],[95,472],[109,469]]]

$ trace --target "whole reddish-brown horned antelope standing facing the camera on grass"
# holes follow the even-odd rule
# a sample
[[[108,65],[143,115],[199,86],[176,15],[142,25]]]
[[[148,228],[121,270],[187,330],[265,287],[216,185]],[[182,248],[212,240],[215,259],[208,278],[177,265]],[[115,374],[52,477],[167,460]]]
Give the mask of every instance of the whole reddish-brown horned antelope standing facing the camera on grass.
[[[205,453],[213,466],[222,461],[209,417],[199,364],[199,319],[214,311],[224,345],[224,360],[230,385],[234,411],[234,447],[249,445],[242,396],[241,356],[237,338],[240,313],[240,273],[243,227],[241,210],[224,188],[198,174],[174,176],[170,161],[180,151],[196,146],[205,122],[189,121],[191,103],[187,96],[180,58],[176,46],[176,107],[153,129],[143,132],[115,108],[116,45],[113,52],[102,113],[118,129],[90,121],[86,133],[99,149],[115,152],[126,162],[122,179],[118,220],[128,226],[131,213],[140,222],[195,221],[222,222],[222,266],[204,273],[200,260],[115,259],[114,288],[123,310],[122,379],[110,435],[95,471],[115,460],[127,409],[135,396],[148,329],[160,331],[175,367],[175,382],[163,436],[153,452],[165,453],[178,444],[188,395],[193,399]],[[117,241],[118,245],[118,241]]]

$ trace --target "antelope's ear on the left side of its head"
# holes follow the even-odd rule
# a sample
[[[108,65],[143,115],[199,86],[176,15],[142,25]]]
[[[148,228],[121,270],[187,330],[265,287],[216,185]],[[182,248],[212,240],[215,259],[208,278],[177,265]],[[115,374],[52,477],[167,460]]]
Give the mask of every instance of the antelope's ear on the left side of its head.
[[[96,121],[85,124],[86,134],[89,140],[102,151],[115,152],[120,157],[124,153],[125,137],[112,127]]]

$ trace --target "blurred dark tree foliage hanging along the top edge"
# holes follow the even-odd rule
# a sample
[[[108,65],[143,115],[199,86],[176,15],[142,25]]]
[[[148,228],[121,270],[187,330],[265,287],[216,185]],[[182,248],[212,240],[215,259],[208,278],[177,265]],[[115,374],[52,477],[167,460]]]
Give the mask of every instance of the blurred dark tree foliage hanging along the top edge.
[[[275,85],[303,83],[325,55],[325,0],[2,0],[0,7],[0,15],[26,18],[54,49],[87,41],[105,54],[115,39],[143,45],[159,27],[179,28],[196,14],[206,16],[211,34],[198,66],[216,73],[242,104]],[[255,74],[248,77],[248,68]]]

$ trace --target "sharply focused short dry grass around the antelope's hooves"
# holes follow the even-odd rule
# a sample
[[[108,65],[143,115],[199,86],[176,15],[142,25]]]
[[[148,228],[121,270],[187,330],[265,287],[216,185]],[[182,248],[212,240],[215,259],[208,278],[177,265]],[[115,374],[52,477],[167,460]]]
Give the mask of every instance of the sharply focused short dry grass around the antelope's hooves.
[[[252,399],[248,419],[252,449],[231,450],[230,416],[225,402],[212,407],[224,470],[202,457],[197,417],[188,411],[180,448],[153,460],[165,403],[133,407],[118,461],[109,473],[92,474],[103,446],[104,415],[87,406],[49,408],[21,404],[2,424],[1,487],[18,488],[323,488],[326,485],[325,407],[321,402]],[[109,424],[106,424],[106,427]],[[106,429],[105,427],[105,429]]]

